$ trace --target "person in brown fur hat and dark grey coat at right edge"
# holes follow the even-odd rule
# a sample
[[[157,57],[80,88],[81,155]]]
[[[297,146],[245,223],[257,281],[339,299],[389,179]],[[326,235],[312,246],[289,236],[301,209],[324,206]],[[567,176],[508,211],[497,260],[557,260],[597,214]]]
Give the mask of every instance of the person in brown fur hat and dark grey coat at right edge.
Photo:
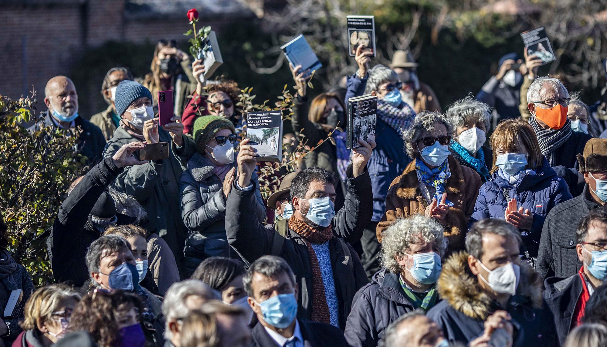
[[[541,231],[536,271],[543,279],[567,278],[582,266],[575,251],[575,229],[592,209],[607,201],[607,139],[592,138],[578,155],[585,186],[578,197],[555,206]]]

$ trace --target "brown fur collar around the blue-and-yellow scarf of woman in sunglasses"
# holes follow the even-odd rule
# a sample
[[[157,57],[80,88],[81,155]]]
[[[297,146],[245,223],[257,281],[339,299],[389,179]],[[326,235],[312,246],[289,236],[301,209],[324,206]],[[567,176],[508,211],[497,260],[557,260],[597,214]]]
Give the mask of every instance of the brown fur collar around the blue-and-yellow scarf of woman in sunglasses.
[[[453,158],[453,155],[449,155],[447,160],[449,160],[451,177],[447,179],[445,191],[447,194],[460,194],[464,191],[465,184],[461,165]],[[401,177],[399,177],[396,195],[401,199],[415,199],[417,195],[421,195],[417,171],[415,169],[415,159],[407,165]]]

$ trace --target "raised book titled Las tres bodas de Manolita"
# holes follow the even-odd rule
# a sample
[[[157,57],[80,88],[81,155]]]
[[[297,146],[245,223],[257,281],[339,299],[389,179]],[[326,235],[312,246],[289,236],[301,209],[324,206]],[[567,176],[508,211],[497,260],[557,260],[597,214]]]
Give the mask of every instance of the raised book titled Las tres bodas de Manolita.
[[[282,111],[248,112],[246,138],[257,150],[258,161],[282,161]]]

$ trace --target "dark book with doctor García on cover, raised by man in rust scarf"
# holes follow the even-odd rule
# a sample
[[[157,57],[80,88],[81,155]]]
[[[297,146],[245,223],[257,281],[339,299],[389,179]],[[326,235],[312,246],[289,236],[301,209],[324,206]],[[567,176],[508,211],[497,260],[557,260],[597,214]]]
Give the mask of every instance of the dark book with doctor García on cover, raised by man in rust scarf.
[[[375,141],[375,124],[378,109],[378,98],[371,94],[348,99],[346,129],[346,147],[360,147],[358,140]]]

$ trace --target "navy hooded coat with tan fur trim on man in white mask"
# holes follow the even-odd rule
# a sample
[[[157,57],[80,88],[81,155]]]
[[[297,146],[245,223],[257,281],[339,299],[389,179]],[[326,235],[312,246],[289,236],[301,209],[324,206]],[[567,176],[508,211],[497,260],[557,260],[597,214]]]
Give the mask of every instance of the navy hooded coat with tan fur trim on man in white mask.
[[[521,264],[517,294],[507,307],[501,307],[478,285],[468,266],[468,255],[453,254],[443,264],[436,285],[443,301],[427,314],[443,329],[446,339],[467,345],[483,334],[487,317],[501,309],[512,316],[513,347],[551,346],[554,329],[542,318],[541,278],[531,266]]]

